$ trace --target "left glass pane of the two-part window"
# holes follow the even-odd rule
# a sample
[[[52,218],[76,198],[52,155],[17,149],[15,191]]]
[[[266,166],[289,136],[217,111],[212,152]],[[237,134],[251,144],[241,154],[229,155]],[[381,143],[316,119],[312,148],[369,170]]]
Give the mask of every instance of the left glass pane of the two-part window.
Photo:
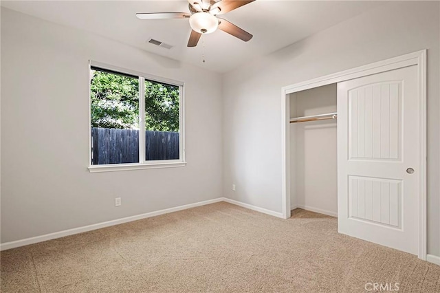
[[[91,164],[139,162],[139,78],[91,68]]]

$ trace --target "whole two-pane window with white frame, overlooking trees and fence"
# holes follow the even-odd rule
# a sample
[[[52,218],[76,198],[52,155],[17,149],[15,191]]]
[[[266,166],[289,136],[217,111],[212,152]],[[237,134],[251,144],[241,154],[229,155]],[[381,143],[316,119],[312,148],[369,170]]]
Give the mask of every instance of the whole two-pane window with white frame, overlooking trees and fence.
[[[183,84],[90,66],[91,172],[184,166]]]

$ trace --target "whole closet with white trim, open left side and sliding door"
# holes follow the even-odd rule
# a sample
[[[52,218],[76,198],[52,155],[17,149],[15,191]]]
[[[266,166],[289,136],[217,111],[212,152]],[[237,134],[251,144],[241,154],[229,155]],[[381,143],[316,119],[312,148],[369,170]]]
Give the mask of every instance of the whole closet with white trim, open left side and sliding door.
[[[281,93],[283,217],[337,214],[339,233],[426,259],[426,50]]]

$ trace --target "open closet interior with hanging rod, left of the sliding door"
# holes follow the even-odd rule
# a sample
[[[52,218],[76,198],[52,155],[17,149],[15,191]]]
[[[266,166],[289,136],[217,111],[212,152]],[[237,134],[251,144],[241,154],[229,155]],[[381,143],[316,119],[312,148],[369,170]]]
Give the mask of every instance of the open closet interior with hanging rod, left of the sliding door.
[[[338,216],[337,94],[336,83],[289,94],[292,217]]]

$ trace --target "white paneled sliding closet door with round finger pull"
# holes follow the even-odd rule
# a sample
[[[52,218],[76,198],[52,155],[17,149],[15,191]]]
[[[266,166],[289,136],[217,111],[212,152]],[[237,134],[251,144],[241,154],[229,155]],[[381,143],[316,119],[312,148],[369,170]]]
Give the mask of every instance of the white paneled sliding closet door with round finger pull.
[[[338,230],[417,254],[417,66],[338,83]]]

